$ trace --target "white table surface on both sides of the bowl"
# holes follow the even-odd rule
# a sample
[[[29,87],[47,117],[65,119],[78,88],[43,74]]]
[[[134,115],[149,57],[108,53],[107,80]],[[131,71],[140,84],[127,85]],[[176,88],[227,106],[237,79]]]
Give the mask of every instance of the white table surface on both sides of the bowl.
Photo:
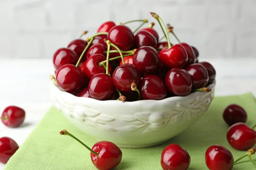
[[[246,92],[256,95],[256,59],[204,60],[212,63],[217,71],[216,96]],[[51,106],[49,75],[52,73],[51,59],[0,59],[0,113],[8,105],[26,111],[25,122],[18,128],[0,122],[0,137],[8,136],[23,144]],[[0,164],[0,170],[4,166]]]

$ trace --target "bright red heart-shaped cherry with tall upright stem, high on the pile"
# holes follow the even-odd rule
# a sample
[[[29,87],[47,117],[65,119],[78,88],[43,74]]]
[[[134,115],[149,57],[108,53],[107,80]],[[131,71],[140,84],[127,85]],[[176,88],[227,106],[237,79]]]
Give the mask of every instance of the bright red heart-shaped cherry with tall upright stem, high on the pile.
[[[159,57],[168,68],[183,68],[188,62],[186,49],[180,44],[163,48],[159,51]]]

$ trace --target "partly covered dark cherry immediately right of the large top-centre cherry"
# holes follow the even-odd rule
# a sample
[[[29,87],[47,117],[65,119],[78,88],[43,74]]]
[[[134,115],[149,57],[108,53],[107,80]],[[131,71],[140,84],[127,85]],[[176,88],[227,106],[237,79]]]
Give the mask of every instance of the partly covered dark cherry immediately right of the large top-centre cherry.
[[[142,46],[151,46],[153,48],[157,48],[157,39],[148,31],[140,30],[135,35],[135,44],[136,48]]]

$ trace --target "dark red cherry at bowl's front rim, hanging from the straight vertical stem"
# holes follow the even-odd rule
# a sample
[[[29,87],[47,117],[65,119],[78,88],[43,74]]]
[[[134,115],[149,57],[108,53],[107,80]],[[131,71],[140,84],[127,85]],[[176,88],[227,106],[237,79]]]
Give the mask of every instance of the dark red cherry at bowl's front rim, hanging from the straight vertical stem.
[[[111,99],[116,91],[112,78],[105,73],[95,74],[88,84],[89,95],[93,99]]]

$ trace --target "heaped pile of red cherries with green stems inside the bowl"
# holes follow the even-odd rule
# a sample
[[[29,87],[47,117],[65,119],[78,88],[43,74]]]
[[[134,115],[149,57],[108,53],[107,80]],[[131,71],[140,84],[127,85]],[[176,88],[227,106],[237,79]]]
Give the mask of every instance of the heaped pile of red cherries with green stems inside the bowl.
[[[210,91],[205,87],[215,80],[213,66],[198,63],[198,50],[180,42],[173,27],[166,28],[157,14],[151,15],[160,23],[166,41],[160,42],[163,38],[159,39],[154,23],[140,29],[148,20],[120,25],[108,21],[95,35],[58,49],[53,55],[55,77],[50,78],[61,91],[98,100],[161,100]],[[125,26],[138,21],[143,23],[135,31]],[[178,44],[170,42],[169,33]]]

